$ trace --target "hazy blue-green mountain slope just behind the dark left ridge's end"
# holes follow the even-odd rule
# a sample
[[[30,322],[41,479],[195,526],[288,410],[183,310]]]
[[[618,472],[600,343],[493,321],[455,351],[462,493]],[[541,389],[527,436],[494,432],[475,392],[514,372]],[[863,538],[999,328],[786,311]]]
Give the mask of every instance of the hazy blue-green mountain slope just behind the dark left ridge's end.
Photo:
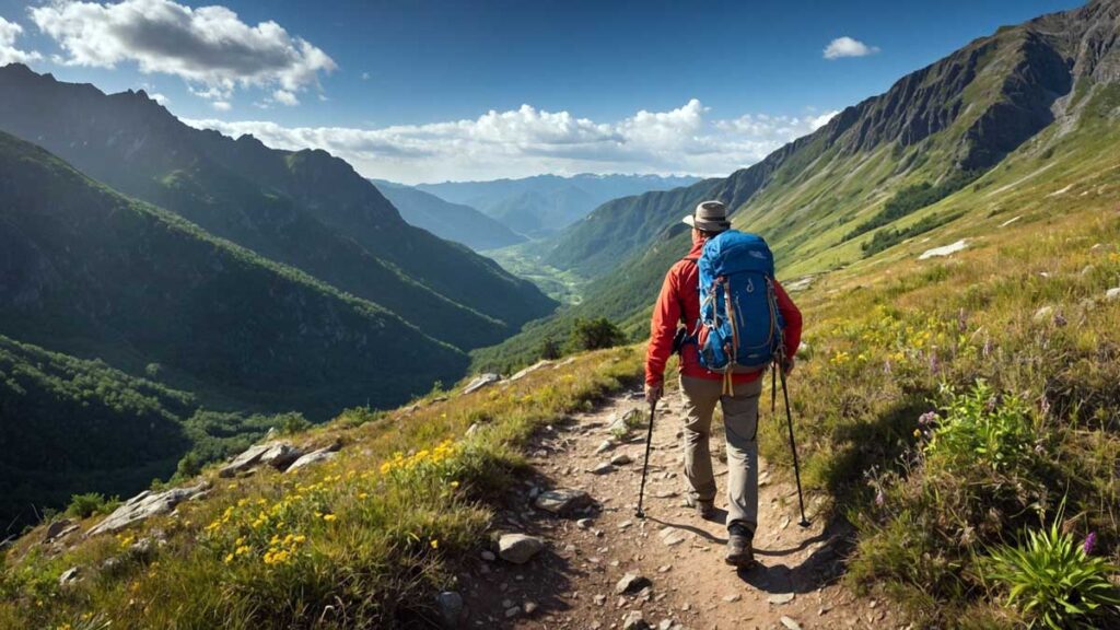
[[[468,205],[445,202],[431,193],[403,184],[383,179],[371,182],[392,202],[404,221],[441,239],[463,243],[476,251],[525,242],[524,237]]]

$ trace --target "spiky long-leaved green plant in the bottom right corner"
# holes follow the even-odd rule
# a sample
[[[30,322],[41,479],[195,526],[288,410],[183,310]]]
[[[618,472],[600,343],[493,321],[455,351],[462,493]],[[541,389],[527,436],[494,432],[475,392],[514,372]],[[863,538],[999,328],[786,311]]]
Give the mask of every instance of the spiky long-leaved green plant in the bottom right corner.
[[[1009,589],[1007,602],[1039,623],[1063,628],[1103,628],[1101,619],[1120,621],[1120,593],[1109,581],[1118,568],[1091,555],[1095,536],[1079,545],[1058,527],[1032,530],[1021,546],[1004,546],[991,554],[988,577]]]

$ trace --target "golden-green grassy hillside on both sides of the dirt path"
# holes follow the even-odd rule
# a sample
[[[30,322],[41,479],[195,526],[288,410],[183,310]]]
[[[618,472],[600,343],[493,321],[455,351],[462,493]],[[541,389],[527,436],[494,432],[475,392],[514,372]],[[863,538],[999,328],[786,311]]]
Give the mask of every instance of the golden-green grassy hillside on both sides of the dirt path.
[[[888,597],[915,627],[1029,623],[1037,612],[1008,593],[1046,589],[1045,577],[996,558],[1054,522],[1058,543],[1080,549],[1095,537],[1092,556],[1071,555],[1061,575],[1120,584],[1117,569],[1091,564],[1120,563],[1120,309],[1107,297],[1120,288],[1120,164],[1104,156],[1083,154],[1054,179],[998,195],[970,188],[955,201],[979,211],[974,240],[949,258],[918,254],[965,226],[799,295],[806,348],[791,388],[809,503],[815,518],[857,528],[847,583]],[[1036,166],[1024,159],[1008,174]],[[234,483],[207,473],[217,483],[206,501],[122,539],[53,556],[32,534],[8,554],[0,626],[83,615],[125,627],[433,624],[435,593],[497,527],[493,509],[522,476],[528,433],[633,382],[641,356],[640,346],[587,354],[504,389],[433,395],[383,417],[343,414],[301,438],[342,439],[336,463]],[[485,428],[464,437],[473,423]],[[784,424],[764,415],[759,439],[772,474],[790,474]],[[259,513],[283,526],[254,525]],[[157,529],[167,545],[128,550]],[[124,564],[57,586],[66,568],[109,557]],[[1067,627],[1117,620],[1108,606],[1061,614]]]

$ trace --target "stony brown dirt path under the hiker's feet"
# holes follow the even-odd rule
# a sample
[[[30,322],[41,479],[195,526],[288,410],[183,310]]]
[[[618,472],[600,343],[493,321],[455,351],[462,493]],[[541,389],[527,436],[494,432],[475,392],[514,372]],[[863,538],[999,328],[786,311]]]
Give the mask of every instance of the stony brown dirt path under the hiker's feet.
[[[681,504],[687,481],[675,395],[659,406],[647,518],[636,518],[645,430],[596,454],[610,437],[612,421],[633,408],[646,409],[636,395],[622,396],[538,436],[531,457],[538,474],[524,480],[523,490],[510,499],[498,526],[540,536],[547,550],[524,565],[485,554],[469,574],[460,575],[469,626],[643,628],[624,621],[640,611],[648,627],[664,629],[899,628],[883,602],[857,599],[837,583],[842,546],[849,540],[847,526],[813,520],[809,528],[799,527],[795,488],[772,480],[772,473],[780,475],[765,462],[755,537],[759,564],[739,572],[724,564],[725,513],[702,521]],[[722,453],[721,436],[713,437],[712,452]],[[620,454],[631,463],[589,472]],[[718,457],[713,464],[722,493],[727,466]],[[558,488],[585,490],[595,503],[567,517],[533,507],[539,491]],[[722,503],[721,494],[717,507]],[[619,594],[617,583],[627,573],[645,581]]]

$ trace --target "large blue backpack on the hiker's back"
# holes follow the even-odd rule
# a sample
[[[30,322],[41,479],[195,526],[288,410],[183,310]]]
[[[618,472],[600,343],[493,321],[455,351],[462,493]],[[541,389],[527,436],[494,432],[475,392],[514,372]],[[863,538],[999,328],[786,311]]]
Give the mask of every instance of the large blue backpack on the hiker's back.
[[[774,254],[757,234],[728,230],[708,240],[700,271],[700,364],[730,374],[760,372],[782,352],[785,322],[774,290]]]

